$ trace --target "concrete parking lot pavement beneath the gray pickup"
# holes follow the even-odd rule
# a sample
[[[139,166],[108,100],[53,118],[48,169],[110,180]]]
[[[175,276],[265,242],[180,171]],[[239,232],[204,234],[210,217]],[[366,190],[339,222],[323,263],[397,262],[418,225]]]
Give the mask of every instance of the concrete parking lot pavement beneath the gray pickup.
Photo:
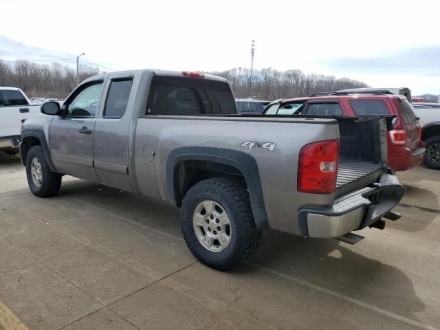
[[[265,232],[229,273],[198,263],[164,203],[63,178],[34,197],[0,153],[0,329],[440,329],[440,171],[357,245]]]

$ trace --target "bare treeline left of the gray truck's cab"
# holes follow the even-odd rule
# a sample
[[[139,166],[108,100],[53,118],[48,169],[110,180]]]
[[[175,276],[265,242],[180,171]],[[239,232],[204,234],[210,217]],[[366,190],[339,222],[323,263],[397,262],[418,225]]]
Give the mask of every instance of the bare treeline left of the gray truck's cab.
[[[99,74],[98,67],[80,64],[78,80]],[[60,63],[13,63],[0,60],[0,86],[19,87],[29,98],[64,98],[78,85],[76,69]]]

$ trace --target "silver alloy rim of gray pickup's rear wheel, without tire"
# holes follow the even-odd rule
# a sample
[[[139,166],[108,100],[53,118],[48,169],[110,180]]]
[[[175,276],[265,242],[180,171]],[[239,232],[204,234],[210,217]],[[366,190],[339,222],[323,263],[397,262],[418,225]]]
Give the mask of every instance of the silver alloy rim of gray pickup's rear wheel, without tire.
[[[215,201],[202,201],[192,215],[192,227],[203,248],[221,252],[231,241],[231,222],[226,211]]]

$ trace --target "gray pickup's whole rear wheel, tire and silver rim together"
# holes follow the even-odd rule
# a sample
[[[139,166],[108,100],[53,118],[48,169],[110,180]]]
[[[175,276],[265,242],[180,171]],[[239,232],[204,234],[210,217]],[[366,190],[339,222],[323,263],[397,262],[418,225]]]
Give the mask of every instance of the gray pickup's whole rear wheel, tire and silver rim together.
[[[248,192],[231,179],[206,179],[188,190],[181,205],[181,230],[192,254],[215,270],[243,263],[261,241]]]

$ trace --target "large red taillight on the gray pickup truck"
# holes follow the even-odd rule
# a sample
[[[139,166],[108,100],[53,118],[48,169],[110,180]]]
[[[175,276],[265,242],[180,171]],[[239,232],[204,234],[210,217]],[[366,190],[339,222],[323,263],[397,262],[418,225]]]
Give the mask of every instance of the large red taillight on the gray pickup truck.
[[[339,140],[306,144],[298,160],[298,191],[331,194],[336,190]]]

